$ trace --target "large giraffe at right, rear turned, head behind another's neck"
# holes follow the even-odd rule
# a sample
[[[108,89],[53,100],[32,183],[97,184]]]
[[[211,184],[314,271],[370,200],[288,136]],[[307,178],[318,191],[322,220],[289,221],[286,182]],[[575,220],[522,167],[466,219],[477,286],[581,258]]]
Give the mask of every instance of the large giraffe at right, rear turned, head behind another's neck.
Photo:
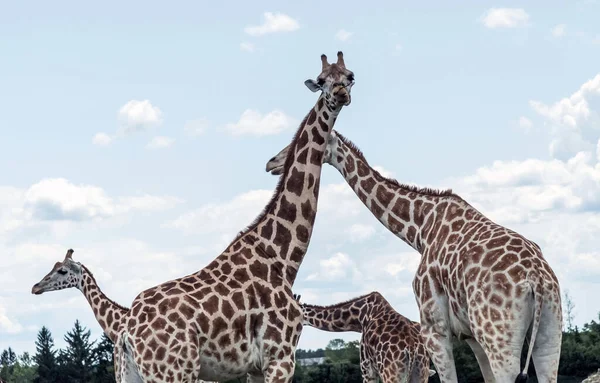
[[[281,172],[287,148],[267,163]],[[456,382],[452,335],[464,338],[486,382],[556,382],[562,338],[558,280],[540,247],[494,223],[451,190],[383,177],[336,131],[324,161],[335,167],[377,219],[421,255],[413,281],[421,333],[442,382]],[[520,356],[531,328],[524,370]]]

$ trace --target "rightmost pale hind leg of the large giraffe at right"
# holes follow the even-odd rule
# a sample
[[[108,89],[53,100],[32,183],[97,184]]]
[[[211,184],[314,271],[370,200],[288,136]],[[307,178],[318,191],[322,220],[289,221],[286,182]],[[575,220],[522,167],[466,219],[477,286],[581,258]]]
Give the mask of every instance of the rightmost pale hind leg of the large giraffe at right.
[[[560,302],[560,299],[558,302]],[[560,304],[552,306],[552,303],[548,302],[542,306],[540,326],[532,354],[535,373],[540,383],[555,383],[558,379],[558,362],[562,341],[562,314],[560,310]]]

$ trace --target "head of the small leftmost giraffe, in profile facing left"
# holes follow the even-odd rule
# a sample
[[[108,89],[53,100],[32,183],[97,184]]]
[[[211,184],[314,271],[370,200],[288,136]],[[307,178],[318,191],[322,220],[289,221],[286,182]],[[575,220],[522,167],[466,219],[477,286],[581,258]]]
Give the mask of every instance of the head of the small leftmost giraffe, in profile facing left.
[[[50,272],[33,285],[31,293],[39,295],[46,291],[79,287],[83,277],[83,267],[73,260],[73,249],[69,249],[62,262],[56,262]]]

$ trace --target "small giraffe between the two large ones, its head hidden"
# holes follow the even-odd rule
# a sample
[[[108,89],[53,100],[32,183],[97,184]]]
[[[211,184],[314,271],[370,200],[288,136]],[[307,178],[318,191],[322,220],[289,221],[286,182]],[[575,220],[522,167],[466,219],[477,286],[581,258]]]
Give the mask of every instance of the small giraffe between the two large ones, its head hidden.
[[[294,295],[300,302],[300,295]],[[421,341],[420,325],[400,315],[378,292],[331,306],[301,303],[303,323],[324,331],[355,331],[364,383],[423,383],[435,371]]]

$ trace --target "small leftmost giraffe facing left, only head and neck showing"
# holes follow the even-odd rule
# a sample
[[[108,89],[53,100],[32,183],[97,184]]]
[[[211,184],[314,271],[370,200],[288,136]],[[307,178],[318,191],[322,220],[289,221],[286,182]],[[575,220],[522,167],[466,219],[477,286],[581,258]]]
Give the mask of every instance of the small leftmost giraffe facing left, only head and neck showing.
[[[129,309],[108,298],[98,287],[92,272],[73,260],[73,249],[67,250],[62,262],[56,262],[52,270],[38,283],[33,285],[31,293],[41,295],[47,291],[63,290],[75,287],[87,299],[98,324],[110,340],[116,342],[121,321]]]

